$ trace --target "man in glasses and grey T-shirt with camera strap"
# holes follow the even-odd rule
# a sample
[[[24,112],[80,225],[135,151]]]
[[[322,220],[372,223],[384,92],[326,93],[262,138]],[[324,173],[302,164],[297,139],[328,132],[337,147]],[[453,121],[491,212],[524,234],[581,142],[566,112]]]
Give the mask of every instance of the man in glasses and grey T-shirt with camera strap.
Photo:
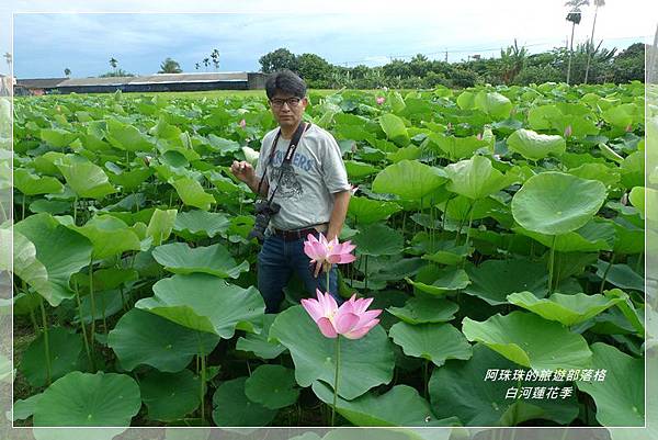
[[[258,255],[258,289],[265,301],[265,313],[276,313],[293,271],[309,295],[315,295],[316,289],[327,291],[326,275],[318,277],[320,268],[311,267],[304,241],[308,234],[317,237],[322,233],[328,240],[339,236],[351,187],[336,139],[315,124],[304,126],[291,161],[284,161],[297,127],[306,124],[302,122],[308,105],[304,81],[283,70],[268,77],[265,92],[279,128],[263,137],[256,170],[246,161],[234,161],[231,172],[254,193],[260,187],[263,198],[274,193],[273,202],[281,205]],[[341,302],[336,264],[329,271],[329,292]]]

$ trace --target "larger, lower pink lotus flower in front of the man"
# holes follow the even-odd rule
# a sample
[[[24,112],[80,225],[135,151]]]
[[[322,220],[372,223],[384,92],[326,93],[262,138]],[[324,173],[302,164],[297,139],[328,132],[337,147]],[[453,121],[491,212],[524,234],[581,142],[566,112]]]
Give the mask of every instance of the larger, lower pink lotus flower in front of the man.
[[[316,295],[317,300],[302,300],[302,306],[327,338],[342,335],[348,339],[360,339],[379,323],[377,316],[382,309],[367,311],[373,298],[356,298],[356,295],[352,295],[339,307],[328,292],[322,294],[316,290]]]

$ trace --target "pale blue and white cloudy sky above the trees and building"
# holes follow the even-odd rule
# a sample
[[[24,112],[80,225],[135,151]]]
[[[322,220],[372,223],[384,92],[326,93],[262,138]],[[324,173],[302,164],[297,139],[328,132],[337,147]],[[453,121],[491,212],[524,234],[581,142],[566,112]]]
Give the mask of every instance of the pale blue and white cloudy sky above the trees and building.
[[[65,68],[79,78],[111,70],[111,57],[135,75],[157,72],[166,57],[188,72],[215,71],[201,63],[214,48],[219,71],[257,71],[259,58],[279,47],[334,65],[377,66],[419,53],[444,59],[447,50],[449,61],[498,56],[514,38],[536,53],[565,45],[570,34],[568,10],[558,0],[181,3],[10,0],[0,5],[0,53],[13,53],[19,78],[61,77]],[[593,14],[593,7],[583,9],[576,43],[589,38]],[[619,48],[653,43],[657,25],[658,2],[609,0],[599,10],[594,40]],[[7,71],[0,59],[0,72]]]

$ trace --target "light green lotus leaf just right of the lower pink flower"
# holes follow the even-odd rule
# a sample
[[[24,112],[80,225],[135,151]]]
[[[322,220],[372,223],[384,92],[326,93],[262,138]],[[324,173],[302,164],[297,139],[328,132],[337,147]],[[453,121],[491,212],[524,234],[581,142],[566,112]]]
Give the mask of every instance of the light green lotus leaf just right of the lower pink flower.
[[[472,356],[470,345],[464,335],[450,324],[397,323],[388,335],[402,348],[405,354],[428,359],[436,366],[446,359],[467,360]]]

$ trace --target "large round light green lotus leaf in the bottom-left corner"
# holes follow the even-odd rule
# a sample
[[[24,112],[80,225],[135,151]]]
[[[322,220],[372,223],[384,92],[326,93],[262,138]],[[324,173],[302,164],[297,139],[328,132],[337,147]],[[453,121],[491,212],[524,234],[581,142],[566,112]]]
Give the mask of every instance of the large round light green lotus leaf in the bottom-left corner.
[[[127,427],[141,407],[139,386],[125,374],[75,371],[36,403],[34,426]]]

